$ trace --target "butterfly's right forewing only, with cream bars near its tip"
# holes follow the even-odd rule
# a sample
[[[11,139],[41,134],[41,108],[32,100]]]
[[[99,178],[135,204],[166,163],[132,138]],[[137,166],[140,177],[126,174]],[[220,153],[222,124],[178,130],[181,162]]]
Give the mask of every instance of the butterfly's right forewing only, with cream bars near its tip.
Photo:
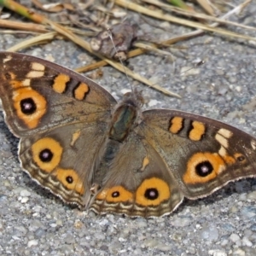
[[[190,199],[256,176],[255,138],[230,125],[159,109],[143,112],[141,131]]]

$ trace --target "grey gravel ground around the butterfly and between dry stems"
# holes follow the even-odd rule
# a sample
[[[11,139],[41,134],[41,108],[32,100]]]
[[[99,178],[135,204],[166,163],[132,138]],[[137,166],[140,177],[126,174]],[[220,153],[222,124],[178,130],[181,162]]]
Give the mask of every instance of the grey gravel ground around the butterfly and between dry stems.
[[[233,20],[256,26],[255,12],[254,2]],[[172,32],[167,33],[139,21],[143,32],[155,38],[189,32],[155,21]],[[2,49],[22,40],[0,32]],[[175,69],[168,57],[154,53],[129,60],[134,71],[183,96],[181,100],[168,97],[129,79],[143,89],[145,108],[199,113],[255,135],[255,44],[205,35],[180,45],[188,49],[183,50],[186,58],[176,50]],[[23,52],[70,68],[94,61],[78,46],[63,40]],[[203,66],[180,75],[200,59],[206,61]],[[130,89],[125,75],[112,67],[102,71],[98,82],[120,99]],[[202,200],[185,200],[177,211],[162,218],[98,216],[64,205],[32,182],[21,172],[17,144],[0,113],[1,255],[256,255],[256,179],[230,183]]]

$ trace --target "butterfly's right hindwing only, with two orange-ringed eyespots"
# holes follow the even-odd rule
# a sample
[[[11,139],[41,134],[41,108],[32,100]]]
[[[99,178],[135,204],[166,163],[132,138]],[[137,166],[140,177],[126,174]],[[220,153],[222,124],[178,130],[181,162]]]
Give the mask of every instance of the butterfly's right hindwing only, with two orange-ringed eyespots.
[[[114,154],[91,209],[152,217],[172,212],[182,201],[183,194],[160,154],[131,131]]]

